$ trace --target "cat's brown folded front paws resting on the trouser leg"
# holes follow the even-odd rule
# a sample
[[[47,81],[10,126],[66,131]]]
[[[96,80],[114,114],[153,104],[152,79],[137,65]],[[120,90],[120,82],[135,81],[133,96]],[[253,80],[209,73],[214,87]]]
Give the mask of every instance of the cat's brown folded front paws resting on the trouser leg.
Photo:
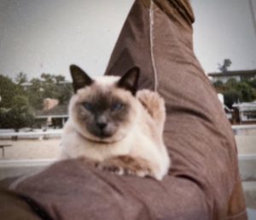
[[[109,171],[118,175],[132,175],[137,177],[154,177],[147,160],[131,156],[118,156],[101,162],[98,166],[102,171]]]

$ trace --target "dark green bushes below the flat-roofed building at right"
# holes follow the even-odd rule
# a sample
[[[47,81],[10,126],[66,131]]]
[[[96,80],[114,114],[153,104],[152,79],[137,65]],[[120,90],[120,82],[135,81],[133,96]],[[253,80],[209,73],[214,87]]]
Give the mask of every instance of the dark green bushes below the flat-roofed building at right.
[[[224,95],[224,103],[228,107],[238,101],[250,102],[256,99],[256,79],[237,82],[235,78],[230,78],[225,84],[217,81],[213,86]]]

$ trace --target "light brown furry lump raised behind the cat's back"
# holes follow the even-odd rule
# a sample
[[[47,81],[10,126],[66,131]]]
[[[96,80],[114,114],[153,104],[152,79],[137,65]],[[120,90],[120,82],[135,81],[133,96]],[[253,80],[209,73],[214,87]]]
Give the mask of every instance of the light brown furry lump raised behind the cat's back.
[[[154,119],[154,122],[160,128],[162,133],[166,121],[166,106],[164,99],[159,93],[151,90],[139,90],[137,99],[143,104],[143,107],[148,111],[149,115]]]

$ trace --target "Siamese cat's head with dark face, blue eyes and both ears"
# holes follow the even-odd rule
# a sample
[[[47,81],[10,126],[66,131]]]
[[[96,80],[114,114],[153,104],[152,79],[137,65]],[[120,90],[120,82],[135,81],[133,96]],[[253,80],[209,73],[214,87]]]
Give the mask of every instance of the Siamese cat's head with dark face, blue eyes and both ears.
[[[69,116],[80,135],[94,142],[117,142],[129,134],[137,119],[139,69],[131,68],[123,77],[90,78],[72,65],[74,95]]]

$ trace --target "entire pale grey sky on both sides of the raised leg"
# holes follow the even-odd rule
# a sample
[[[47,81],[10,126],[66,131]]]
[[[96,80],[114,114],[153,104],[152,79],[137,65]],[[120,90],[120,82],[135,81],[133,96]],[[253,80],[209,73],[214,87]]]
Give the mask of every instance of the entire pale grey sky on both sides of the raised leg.
[[[256,12],[256,0],[253,10]],[[256,69],[256,30],[249,0],[192,0],[195,54],[206,72]],[[69,77],[77,64],[102,75],[133,0],[1,0],[0,74]],[[256,13],[255,13],[256,14]]]

